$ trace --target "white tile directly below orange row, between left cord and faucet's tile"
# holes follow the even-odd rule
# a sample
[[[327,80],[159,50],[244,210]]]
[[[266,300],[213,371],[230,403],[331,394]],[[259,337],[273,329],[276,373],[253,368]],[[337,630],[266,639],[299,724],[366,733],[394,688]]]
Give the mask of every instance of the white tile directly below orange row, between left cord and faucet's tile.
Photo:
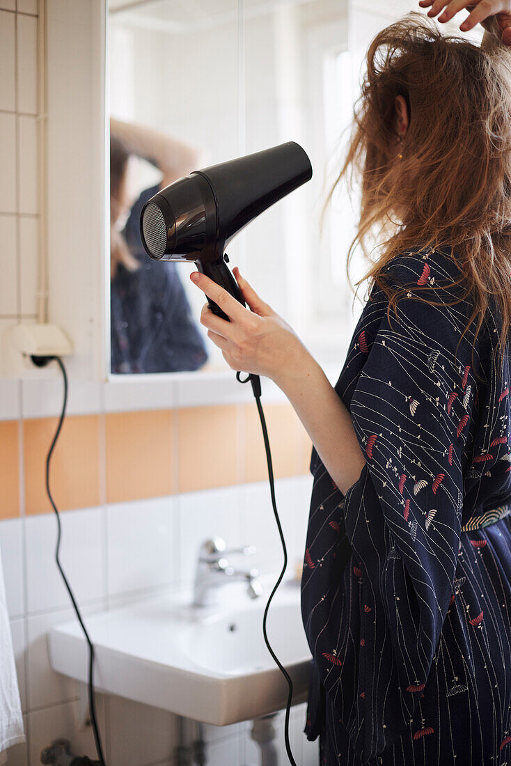
[[[175,498],[106,506],[109,595],[175,581]]]

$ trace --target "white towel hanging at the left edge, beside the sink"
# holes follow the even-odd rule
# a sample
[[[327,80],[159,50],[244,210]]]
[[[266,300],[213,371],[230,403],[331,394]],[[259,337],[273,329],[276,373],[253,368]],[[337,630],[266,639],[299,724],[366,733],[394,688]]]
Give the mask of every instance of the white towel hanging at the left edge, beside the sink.
[[[25,741],[23,716],[12,648],[11,624],[5,600],[4,572],[0,558],[0,764],[2,753]]]

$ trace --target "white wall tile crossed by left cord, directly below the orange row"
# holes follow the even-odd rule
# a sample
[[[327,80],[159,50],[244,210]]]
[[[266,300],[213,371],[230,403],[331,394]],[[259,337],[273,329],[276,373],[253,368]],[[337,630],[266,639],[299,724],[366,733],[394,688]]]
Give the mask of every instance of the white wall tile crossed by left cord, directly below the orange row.
[[[78,604],[104,595],[102,509],[61,513],[61,564]],[[57,522],[53,514],[25,519],[28,614],[67,607],[69,595],[54,559]]]

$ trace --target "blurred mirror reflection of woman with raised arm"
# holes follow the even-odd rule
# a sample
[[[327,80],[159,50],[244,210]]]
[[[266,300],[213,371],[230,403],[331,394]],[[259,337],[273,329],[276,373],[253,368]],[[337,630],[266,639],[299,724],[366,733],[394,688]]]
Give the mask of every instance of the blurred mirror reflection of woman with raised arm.
[[[129,198],[130,155],[162,172],[159,185]],[[195,167],[189,146],[142,126],[110,121],[110,338],[113,373],[197,370],[208,355],[175,264],[156,262],[139,234],[145,202]]]

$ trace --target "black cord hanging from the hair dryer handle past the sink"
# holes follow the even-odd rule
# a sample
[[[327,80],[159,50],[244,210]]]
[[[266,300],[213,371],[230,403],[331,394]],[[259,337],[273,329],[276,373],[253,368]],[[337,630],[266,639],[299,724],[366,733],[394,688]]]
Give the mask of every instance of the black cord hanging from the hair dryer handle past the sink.
[[[277,500],[275,499],[275,483],[274,483],[274,468],[271,461],[271,451],[270,451],[270,440],[268,439],[268,431],[266,427],[266,420],[264,418],[264,411],[263,406],[260,403],[260,377],[259,375],[253,375],[252,373],[248,375],[247,378],[244,380],[241,380],[240,373],[236,373],[236,380],[240,383],[248,383],[248,381],[251,382],[252,385],[252,391],[254,391],[254,398],[257,404],[257,412],[259,413],[259,419],[260,419],[260,427],[263,430],[263,438],[264,438],[264,449],[266,450],[266,461],[268,464],[268,478],[270,479],[270,494],[271,494],[271,504],[274,508],[274,516],[275,521],[277,522],[277,528],[279,530],[280,535],[280,542],[282,543],[282,550],[284,555],[284,565],[282,570],[280,571],[280,575],[277,579],[277,582],[274,584],[274,589],[270,593],[270,597],[268,598],[266,608],[264,610],[264,616],[263,616],[263,636],[264,636],[264,643],[267,645],[267,649],[270,652],[271,656],[274,658],[275,663],[277,664],[278,668],[280,669],[280,673],[284,676],[284,678],[287,680],[287,686],[289,686],[289,693],[287,695],[287,705],[286,705],[286,720],[284,723],[284,741],[286,743],[286,751],[287,751],[287,758],[289,758],[291,766],[296,766],[296,761],[293,758],[293,752],[291,751],[291,745],[290,745],[290,737],[289,737],[289,724],[290,724],[290,707],[291,707],[291,701],[293,699],[293,681],[290,679],[289,673],[287,673],[286,668],[283,666],[283,664],[280,662],[277,655],[274,653],[274,650],[270,646],[270,641],[268,640],[267,632],[266,632],[266,620],[268,616],[268,610],[270,609],[271,600],[274,597],[277,588],[279,587],[280,583],[282,582],[282,578],[284,576],[284,573],[287,568],[287,548],[286,548],[286,541],[284,540],[284,535],[282,531],[282,525],[280,524],[279,514],[277,511]]]

